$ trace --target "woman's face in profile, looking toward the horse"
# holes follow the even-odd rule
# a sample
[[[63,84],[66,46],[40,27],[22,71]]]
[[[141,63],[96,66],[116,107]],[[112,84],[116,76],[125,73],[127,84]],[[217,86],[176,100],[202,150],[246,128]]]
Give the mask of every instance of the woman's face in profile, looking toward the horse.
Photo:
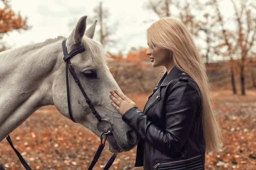
[[[155,49],[155,48],[149,47],[146,54],[149,55],[149,58],[151,59],[153,67],[158,67],[158,66],[166,67],[166,65],[168,65],[171,62],[170,51],[168,49]]]

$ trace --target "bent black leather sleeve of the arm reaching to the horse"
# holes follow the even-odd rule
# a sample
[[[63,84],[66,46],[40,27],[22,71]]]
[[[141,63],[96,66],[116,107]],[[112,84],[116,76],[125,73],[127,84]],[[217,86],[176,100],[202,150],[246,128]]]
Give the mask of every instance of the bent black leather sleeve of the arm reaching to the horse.
[[[165,129],[157,127],[148,117],[133,107],[125,112],[122,120],[152,147],[172,156],[179,153],[192,127],[200,98],[189,82],[177,82],[168,92],[165,102]]]

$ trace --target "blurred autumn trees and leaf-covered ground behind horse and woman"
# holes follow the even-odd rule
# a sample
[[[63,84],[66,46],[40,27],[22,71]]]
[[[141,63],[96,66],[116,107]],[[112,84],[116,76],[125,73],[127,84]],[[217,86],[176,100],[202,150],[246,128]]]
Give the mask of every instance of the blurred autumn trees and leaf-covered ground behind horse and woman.
[[[13,32],[24,34],[33,29],[33,23],[29,23],[30,16],[24,16],[23,11],[13,10],[14,3],[12,0],[1,0],[0,51],[16,47],[9,44],[8,37]],[[147,17],[141,20],[142,25],[150,26],[161,17],[174,17],[182,21],[192,34],[207,66],[212,106],[218,113],[225,149],[221,153],[207,153],[206,169],[256,169],[256,1],[142,0],[141,4],[140,12],[154,15],[152,19]],[[222,8],[225,4],[228,8]],[[107,6],[108,1],[97,1],[92,6],[93,13],[87,23],[98,20],[95,39],[104,45],[114,59],[110,64],[113,77],[122,91],[143,109],[163,68],[151,66],[146,55],[146,43],[129,46],[127,50],[125,41],[128,42],[129,38],[124,40],[115,36],[120,30],[120,20],[111,17],[112,11]],[[71,32],[79,17],[68,20],[67,30]],[[111,24],[109,20],[112,20]],[[133,32],[129,33],[134,36]],[[86,169],[99,145],[96,136],[74,125],[52,106],[36,111],[12,136],[17,149],[35,169]],[[135,153],[136,148],[119,154],[111,168],[135,169]],[[95,169],[102,169],[110,155],[105,150]],[[0,164],[10,170],[22,169],[6,141],[0,143]]]

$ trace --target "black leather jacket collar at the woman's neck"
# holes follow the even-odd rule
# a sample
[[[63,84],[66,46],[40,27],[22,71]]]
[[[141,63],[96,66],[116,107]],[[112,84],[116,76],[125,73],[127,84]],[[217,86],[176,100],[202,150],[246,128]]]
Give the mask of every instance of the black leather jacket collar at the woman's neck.
[[[172,70],[170,71],[169,74],[167,74],[167,71],[166,71],[165,74],[163,74],[163,76],[157,83],[156,89],[159,88],[160,85],[161,86],[168,85],[169,82],[171,82],[173,79],[177,78],[178,75],[180,75],[181,73],[182,73],[182,71],[180,71],[176,66],[174,66],[172,68]]]

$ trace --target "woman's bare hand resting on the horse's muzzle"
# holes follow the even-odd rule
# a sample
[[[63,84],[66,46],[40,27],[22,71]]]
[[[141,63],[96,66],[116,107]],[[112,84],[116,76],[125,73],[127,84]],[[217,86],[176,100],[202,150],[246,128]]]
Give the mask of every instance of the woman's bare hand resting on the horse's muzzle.
[[[121,94],[118,90],[114,89],[110,91],[110,98],[114,101],[111,101],[111,105],[123,115],[130,108],[136,107],[137,105],[129,99],[127,96]]]

